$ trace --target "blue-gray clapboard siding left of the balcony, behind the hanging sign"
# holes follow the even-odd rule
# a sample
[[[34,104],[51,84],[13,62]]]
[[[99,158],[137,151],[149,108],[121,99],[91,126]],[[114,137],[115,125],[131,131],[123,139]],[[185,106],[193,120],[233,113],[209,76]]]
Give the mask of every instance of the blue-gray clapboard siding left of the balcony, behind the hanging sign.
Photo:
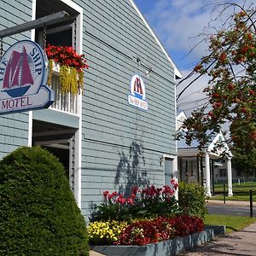
[[[7,1],[0,4],[0,30],[16,26],[32,19],[32,1]],[[30,38],[30,32],[22,32],[3,38],[3,50],[18,40]],[[0,116],[0,159],[15,148],[27,146],[28,114],[9,113]]]

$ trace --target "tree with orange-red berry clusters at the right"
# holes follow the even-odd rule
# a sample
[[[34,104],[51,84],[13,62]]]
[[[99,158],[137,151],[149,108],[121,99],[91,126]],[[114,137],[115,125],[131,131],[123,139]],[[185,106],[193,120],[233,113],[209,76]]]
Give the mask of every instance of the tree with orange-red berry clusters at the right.
[[[256,168],[256,9],[253,6],[245,9],[236,3],[218,7],[222,8],[222,14],[224,10],[232,10],[232,14],[225,17],[222,29],[208,37],[210,53],[201,58],[192,72],[197,78],[209,76],[204,89],[209,100],[185,120],[178,137],[184,137],[187,144],[198,140],[203,148],[228,123],[235,159],[247,162],[245,171],[253,171]]]

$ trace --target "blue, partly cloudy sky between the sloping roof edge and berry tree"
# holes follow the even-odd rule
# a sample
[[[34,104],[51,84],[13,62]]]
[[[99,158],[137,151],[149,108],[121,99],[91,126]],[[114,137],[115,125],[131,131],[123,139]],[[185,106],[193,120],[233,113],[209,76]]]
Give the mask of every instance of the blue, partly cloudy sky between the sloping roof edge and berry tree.
[[[255,0],[247,0],[246,5]],[[202,56],[207,55],[207,43],[198,44],[202,38],[199,34],[209,34],[208,25],[218,27],[216,20],[218,12],[212,12],[221,0],[134,0],[138,9],[148,21],[149,26],[160,39],[172,61],[183,74],[188,74]],[[233,0],[244,3],[243,0]],[[198,45],[197,45],[198,44]],[[196,46],[197,45],[197,46]],[[177,93],[183,90],[185,84],[177,87]],[[207,78],[189,86],[177,102],[177,108],[189,115],[193,109],[200,108],[206,102],[202,93],[207,86]]]

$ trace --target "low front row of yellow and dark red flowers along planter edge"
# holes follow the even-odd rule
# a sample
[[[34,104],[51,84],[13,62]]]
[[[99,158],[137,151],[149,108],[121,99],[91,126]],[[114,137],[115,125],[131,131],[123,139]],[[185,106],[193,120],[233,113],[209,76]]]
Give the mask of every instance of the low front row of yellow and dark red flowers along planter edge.
[[[126,222],[90,223],[88,236],[90,244],[115,244],[142,246],[152,242],[165,241],[175,237],[188,236],[204,230],[201,218],[176,216]]]

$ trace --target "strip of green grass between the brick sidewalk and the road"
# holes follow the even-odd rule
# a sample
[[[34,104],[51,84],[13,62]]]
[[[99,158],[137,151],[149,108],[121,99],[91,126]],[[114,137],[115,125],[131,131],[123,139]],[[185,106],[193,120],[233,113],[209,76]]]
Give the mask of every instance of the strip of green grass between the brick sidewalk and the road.
[[[207,225],[225,225],[227,233],[242,230],[254,222],[256,222],[256,218],[245,216],[207,214],[205,218],[205,224]]]

